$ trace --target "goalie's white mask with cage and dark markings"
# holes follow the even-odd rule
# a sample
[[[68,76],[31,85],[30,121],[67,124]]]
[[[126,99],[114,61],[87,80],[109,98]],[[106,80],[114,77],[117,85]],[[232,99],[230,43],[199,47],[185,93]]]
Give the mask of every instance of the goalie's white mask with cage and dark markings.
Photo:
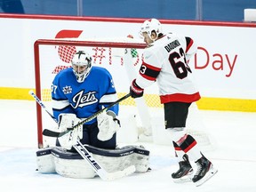
[[[71,63],[77,82],[84,82],[84,79],[89,75],[92,68],[91,55],[84,51],[78,51],[71,60]]]

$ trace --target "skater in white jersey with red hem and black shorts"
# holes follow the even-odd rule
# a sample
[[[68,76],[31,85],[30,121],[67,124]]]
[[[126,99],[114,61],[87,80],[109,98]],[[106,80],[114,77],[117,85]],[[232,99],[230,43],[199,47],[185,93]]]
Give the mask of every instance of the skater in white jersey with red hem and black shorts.
[[[180,157],[180,169],[172,173],[174,181],[192,180],[199,186],[209,180],[217,170],[198,149],[196,140],[186,133],[188,108],[200,99],[193,81],[188,60],[196,53],[197,47],[188,36],[162,32],[159,20],[146,20],[140,29],[148,47],[143,52],[140,74],[132,81],[132,98],[143,95],[144,89],[156,82],[161,103],[164,104],[165,129],[172,137],[176,156]],[[189,161],[194,161],[194,174]],[[189,178],[188,175],[193,176]],[[190,177],[191,177],[190,176]]]

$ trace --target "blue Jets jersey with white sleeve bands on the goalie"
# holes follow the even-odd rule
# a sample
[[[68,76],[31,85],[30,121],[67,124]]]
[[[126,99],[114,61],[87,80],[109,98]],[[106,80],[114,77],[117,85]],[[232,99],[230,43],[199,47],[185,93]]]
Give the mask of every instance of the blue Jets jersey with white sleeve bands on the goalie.
[[[106,68],[93,66],[83,83],[76,81],[72,68],[67,68],[55,76],[52,82],[52,111],[59,119],[60,113],[74,113],[84,119],[117,100],[112,76]],[[118,104],[109,110],[118,115]],[[92,124],[96,119],[86,124]]]

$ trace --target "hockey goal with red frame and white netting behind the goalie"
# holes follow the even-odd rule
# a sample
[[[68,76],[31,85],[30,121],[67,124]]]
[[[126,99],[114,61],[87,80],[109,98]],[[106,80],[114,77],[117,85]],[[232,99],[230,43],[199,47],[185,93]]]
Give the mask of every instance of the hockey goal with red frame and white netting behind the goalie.
[[[52,111],[51,84],[54,76],[64,68],[77,50],[91,53],[93,65],[107,68],[113,76],[118,98],[129,92],[129,86],[139,71],[143,49],[146,44],[131,38],[120,39],[38,39],[34,44],[36,96]],[[136,108],[137,106],[137,108]],[[204,150],[212,149],[212,136],[206,131],[196,104],[188,114],[188,132]],[[38,148],[53,146],[55,139],[43,136],[45,128],[56,129],[51,116],[42,112],[36,104]],[[128,98],[120,103],[119,118],[122,129],[117,132],[118,142],[153,141],[156,144],[172,145],[164,133],[164,109],[160,104],[156,84],[145,90],[142,98]],[[56,131],[56,130],[55,130]],[[143,136],[143,137],[140,137]],[[144,139],[143,139],[144,138]],[[146,138],[146,139],[145,139]]]

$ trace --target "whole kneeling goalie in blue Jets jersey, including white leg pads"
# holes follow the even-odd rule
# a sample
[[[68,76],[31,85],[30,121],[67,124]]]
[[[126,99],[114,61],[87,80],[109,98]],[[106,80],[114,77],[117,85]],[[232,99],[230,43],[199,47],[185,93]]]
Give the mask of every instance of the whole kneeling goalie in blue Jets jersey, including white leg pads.
[[[101,177],[99,169],[124,175],[147,172],[148,150],[116,148],[119,108],[118,103],[111,106],[117,96],[108,70],[92,66],[92,56],[84,51],[76,52],[71,64],[52,82],[53,118],[58,119],[58,132],[63,134],[58,135],[56,147],[36,152],[38,171],[70,178]]]

